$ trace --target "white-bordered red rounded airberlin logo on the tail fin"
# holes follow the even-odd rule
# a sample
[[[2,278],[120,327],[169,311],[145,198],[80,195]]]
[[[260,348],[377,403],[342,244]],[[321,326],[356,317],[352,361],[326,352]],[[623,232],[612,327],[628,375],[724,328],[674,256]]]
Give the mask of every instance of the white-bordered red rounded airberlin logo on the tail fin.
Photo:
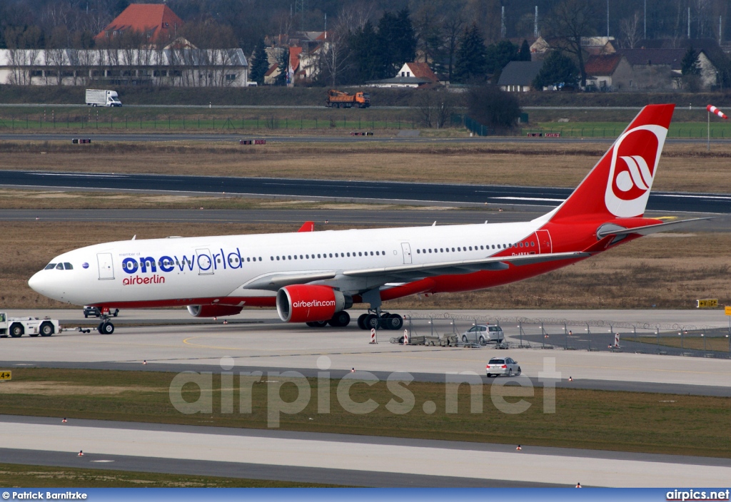
[[[640,125],[619,136],[612,151],[605,204],[617,217],[645,212],[667,129]]]

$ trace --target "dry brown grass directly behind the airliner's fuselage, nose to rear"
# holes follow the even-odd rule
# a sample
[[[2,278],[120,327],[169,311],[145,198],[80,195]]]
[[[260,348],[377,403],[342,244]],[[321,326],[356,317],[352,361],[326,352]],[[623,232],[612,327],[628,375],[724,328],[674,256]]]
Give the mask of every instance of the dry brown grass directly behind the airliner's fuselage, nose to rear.
[[[335,228],[333,228],[335,229]],[[170,235],[295,231],[289,225],[195,223],[4,223],[0,306],[67,306],[31,290],[27,281],[61,252],[88,244]],[[673,234],[668,234],[672,236]],[[731,304],[729,233],[680,234],[639,239],[550,274],[473,293],[403,298],[390,308],[691,308],[697,298]]]

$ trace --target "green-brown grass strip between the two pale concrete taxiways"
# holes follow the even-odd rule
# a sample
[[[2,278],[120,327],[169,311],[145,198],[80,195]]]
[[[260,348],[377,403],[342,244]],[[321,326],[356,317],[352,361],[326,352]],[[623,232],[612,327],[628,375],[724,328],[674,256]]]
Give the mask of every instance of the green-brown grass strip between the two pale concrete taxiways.
[[[213,413],[181,414],[170,403],[169,387],[174,374],[133,371],[92,371],[21,368],[13,380],[0,387],[0,410],[4,414],[37,415],[99,420],[127,420],[170,424],[205,425],[236,428],[267,428],[268,393],[266,383],[254,383],[251,414],[220,412],[220,376],[213,376]],[[280,382],[281,383],[281,382]],[[309,382],[311,395],[317,395],[317,379]],[[238,388],[238,381],[235,382]],[[553,447],[610,449],[628,452],[668,453],[673,455],[731,456],[730,398],[607,392],[599,390],[556,390],[556,413],[542,412],[542,390],[526,397],[531,406],[526,412],[500,412],[491,400],[491,387],[483,387],[482,413],[471,413],[469,386],[458,390],[458,412],[445,412],[443,384],[412,382],[414,407],[405,414],[386,409],[395,396],[385,382],[373,386],[355,384],[352,401],[368,398],[379,403],[368,414],[352,414],[341,407],[337,382],[330,385],[330,413],[317,412],[317,398],[303,412],[281,414],[280,428],[311,432],[365,434],[454,441],[534,444]],[[248,387],[247,387],[248,388]],[[510,387],[507,387],[510,389]],[[292,383],[281,385],[281,399],[295,401]],[[500,395],[509,390],[496,390]],[[234,401],[238,402],[234,392]],[[200,390],[183,387],[183,398],[194,402]],[[397,398],[400,402],[401,398]],[[506,397],[515,402],[518,398]],[[436,403],[436,412],[426,414],[425,401]],[[391,405],[393,406],[393,405]],[[632,420],[626,420],[632,417]],[[692,417],[692,420],[689,419]],[[508,420],[510,419],[510,420]]]

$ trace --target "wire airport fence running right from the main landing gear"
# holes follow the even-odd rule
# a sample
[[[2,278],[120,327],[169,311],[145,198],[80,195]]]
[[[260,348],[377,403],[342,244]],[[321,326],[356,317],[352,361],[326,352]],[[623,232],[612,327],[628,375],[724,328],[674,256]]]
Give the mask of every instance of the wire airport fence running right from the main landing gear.
[[[469,317],[450,313],[429,316],[409,312],[404,315],[404,328],[410,336],[428,336],[430,339],[457,336],[461,341],[463,333],[472,326],[487,324],[502,328],[507,341],[504,348],[731,358],[731,328],[681,323]],[[496,344],[487,346],[496,347]]]

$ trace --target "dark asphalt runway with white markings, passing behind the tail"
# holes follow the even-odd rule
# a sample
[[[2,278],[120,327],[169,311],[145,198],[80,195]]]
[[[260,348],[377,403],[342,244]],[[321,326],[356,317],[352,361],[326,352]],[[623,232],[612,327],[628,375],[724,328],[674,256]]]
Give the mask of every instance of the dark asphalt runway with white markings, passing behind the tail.
[[[45,171],[0,171],[0,180],[0,187],[4,188],[227,193],[240,196],[294,197],[330,201],[492,204],[493,206],[558,206],[573,191],[572,188],[507,185]],[[647,209],[667,212],[729,213],[731,194],[652,192]]]

